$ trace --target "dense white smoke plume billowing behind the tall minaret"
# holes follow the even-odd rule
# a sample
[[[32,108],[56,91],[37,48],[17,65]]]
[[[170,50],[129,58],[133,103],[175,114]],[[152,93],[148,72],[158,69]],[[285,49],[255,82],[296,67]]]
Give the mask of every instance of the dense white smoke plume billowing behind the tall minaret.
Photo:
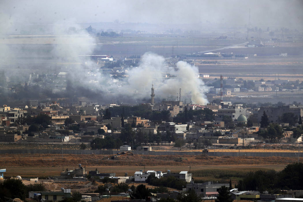
[[[179,61],[177,67],[173,68],[165,64],[162,56],[145,53],[138,68],[129,71],[128,85],[122,87],[120,93],[131,88],[145,91],[142,96],[148,97],[151,84],[154,83],[156,98],[176,98],[181,88],[181,100],[185,101],[186,98],[188,102],[191,100],[195,104],[206,104],[204,93],[208,89],[198,78],[198,74],[198,68],[184,61]],[[168,78],[165,75],[168,75]]]

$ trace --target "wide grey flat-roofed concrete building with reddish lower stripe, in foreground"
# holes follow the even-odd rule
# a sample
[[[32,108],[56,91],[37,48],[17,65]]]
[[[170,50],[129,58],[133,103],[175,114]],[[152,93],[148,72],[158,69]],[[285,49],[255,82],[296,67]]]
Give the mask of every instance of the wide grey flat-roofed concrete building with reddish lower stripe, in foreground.
[[[186,185],[186,191],[194,190],[199,197],[214,197],[222,186],[229,187],[229,184],[213,184],[213,182],[191,183]]]

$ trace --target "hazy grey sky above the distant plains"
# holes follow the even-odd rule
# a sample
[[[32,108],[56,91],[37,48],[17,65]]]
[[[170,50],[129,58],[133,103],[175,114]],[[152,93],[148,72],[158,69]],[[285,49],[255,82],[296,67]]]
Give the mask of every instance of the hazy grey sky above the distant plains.
[[[1,21],[54,23],[147,22],[154,24],[224,23],[301,27],[302,0],[1,0]]]

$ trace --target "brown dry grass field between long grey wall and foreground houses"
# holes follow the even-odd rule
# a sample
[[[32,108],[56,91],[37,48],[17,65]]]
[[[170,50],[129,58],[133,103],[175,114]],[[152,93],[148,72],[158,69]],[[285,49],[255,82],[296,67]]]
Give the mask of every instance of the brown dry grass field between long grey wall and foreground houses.
[[[138,170],[157,170],[171,172],[206,170],[206,169],[258,169],[282,170],[286,164],[297,158],[282,157],[201,157],[201,156],[121,156],[114,160],[105,155],[7,155],[0,157],[1,168],[6,168],[6,176],[47,177],[60,175],[60,171],[73,169],[82,164],[87,171],[98,169],[99,172],[115,172],[116,176],[134,174]],[[303,159],[301,159],[302,161]]]

